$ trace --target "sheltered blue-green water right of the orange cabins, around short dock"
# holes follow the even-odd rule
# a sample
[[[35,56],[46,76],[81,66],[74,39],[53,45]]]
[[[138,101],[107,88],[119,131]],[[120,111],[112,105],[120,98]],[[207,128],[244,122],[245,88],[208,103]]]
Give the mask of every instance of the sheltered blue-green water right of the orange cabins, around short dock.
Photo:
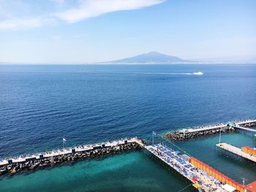
[[[236,147],[255,146],[256,141],[252,139],[252,134],[244,134],[238,132],[234,134],[222,134],[222,142],[230,143]],[[192,156],[204,161],[206,164],[214,167],[219,172],[226,174],[233,180],[242,183],[245,178],[246,183],[251,183],[256,180],[255,164],[241,161],[233,158],[230,155],[221,155],[217,153],[215,144],[219,142],[219,135],[205,137],[203,139],[189,140],[180,143],[178,146],[186,149]]]

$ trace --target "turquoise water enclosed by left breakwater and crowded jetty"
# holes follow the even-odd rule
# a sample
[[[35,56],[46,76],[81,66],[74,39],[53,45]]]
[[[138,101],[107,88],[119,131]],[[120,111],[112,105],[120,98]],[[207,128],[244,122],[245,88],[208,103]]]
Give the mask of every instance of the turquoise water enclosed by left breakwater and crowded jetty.
[[[1,191],[166,191],[185,180],[140,152],[111,155],[1,180]]]

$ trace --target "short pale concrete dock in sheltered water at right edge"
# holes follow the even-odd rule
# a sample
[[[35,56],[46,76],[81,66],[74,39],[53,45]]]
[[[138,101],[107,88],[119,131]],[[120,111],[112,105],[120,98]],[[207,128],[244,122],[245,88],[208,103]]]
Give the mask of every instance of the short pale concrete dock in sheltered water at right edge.
[[[237,155],[238,157],[245,158],[249,161],[256,163],[256,155],[255,155],[256,153],[247,152],[248,150],[246,151],[243,148],[240,149],[238,147],[234,147],[233,145],[229,145],[225,142],[218,143],[216,146],[219,150],[222,150],[222,151],[228,152],[228,153],[232,153],[233,155]],[[255,152],[256,152],[256,150],[255,150]]]

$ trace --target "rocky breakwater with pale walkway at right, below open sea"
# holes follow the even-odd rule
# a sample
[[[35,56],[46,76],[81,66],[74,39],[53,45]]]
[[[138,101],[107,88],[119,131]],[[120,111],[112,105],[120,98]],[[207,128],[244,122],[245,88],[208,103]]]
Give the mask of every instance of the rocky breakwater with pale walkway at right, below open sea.
[[[196,137],[203,137],[206,135],[219,134],[220,132],[225,133],[230,131],[236,131],[238,129],[256,133],[255,129],[249,128],[252,126],[256,126],[256,119],[235,120],[233,122],[218,123],[212,126],[183,128],[178,131],[168,132],[167,134],[165,134],[165,137],[167,139],[181,141],[181,140],[192,139]]]

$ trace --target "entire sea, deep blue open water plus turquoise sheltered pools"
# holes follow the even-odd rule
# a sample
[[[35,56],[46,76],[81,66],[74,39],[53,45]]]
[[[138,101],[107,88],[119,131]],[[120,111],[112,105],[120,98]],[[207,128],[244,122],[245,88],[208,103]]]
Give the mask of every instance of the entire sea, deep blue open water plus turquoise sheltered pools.
[[[198,73],[200,72],[200,73]],[[256,65],[0,65],[0,158],[256,118]],[[251,133],[222,142],[256,146]],[[175,142],[238,183],[256,166],[217,152],[219,135]],[[193,191],[143,150],[0,177],[0,191]]]

